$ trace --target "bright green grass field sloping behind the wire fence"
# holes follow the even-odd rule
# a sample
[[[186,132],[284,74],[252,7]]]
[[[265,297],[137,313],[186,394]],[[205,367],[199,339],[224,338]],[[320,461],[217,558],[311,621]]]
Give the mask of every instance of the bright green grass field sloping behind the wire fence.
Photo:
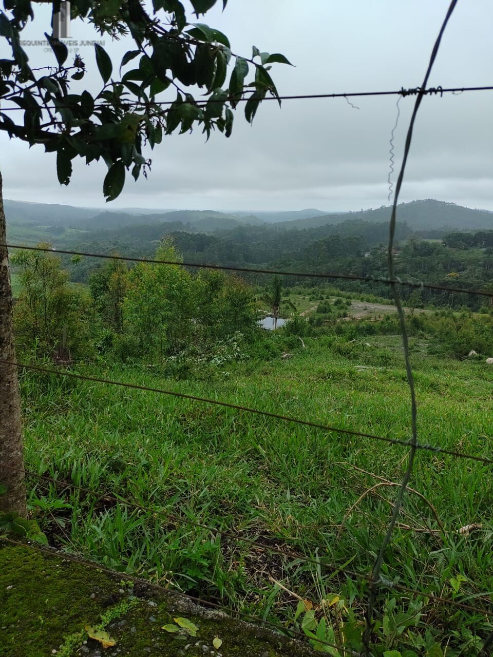
[[[398,336],[305,342],[288,360],[250,359],[189,380],[121,365],[76,371],[410,438]],[[422,339],[411,340],[411,357],[419,441],[493,457],[493,369],[433,357]],[[336,636],[362,626],[367,575],[406,468],[406,447],[46,374],[24,374],[21,387],[28,468],[91,491],[54,483],[46,489],[30,478],[30,503],[52,543],[289,626],[297,626],[298,597],[325,610],[322,601],[337,595],[344,604],[324,611]],[[418,451],[383,577],[423,596],[380,589],[383,624],[375,635],[382,651],[398,645],[410,657],[474,654],[481,645],[476,633],[491,629],[484,614],[426,597],[490,608],[490,473],[487,464]],[[173,517],[116,505],[108,493]],[[466,525],[475,528],[461,533]],[[221,537],[220,529],[295,556]]]

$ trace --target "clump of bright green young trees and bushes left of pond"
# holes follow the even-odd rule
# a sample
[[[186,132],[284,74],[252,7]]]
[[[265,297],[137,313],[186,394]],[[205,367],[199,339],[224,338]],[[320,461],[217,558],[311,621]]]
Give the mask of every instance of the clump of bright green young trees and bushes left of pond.
[[[166,240],[158,260],[181,261]],[[220,271],[193,274],[179,265],[106,261],[89,285],[70,282],[55,254],[12,257],[20,281],[14,309],[17,348],[59,363],[97,358],[158,363],[185,348],[206,353],[235,334],[256,328],[250,288]],[[74,263],[74,266],[76,264]]]

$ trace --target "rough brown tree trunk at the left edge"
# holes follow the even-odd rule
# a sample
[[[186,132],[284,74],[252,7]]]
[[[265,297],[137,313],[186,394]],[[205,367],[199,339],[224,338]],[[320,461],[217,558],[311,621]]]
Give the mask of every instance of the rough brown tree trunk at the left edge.
[[[26,517],[24,449],[17,368],[1,362],[15,362],[9,254],[7,248],[1,246],[6,241],[0,173],[0,485],[7,487],[7,492],[0,495],[0,513],[13,511]]]

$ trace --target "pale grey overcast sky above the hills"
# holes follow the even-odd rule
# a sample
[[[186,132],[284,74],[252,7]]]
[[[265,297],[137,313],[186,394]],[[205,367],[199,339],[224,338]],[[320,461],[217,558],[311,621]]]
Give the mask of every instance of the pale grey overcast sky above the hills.
[[[222,3],[218,3],[222,7]],[[416,87],[423,79],[449,0],[229,0],[202,22],[225,32],[233,51],[252,45],[284,53],[296,68],[275,64],[281,95],[348,93]],[[24,39],[49,31],[49,7],[34,5],[35,22]],[[431,75],[432,86],[493,84],[490,0],[459,0]],[[193,20],[190,18],[189,20]],[[72,24],[74,39],[101,38],[91,26]],[[5,39],[1,39],[5,41]],[[105,49],[118,66],[131,43]],[[27,47],[34,66],[51,63],[42,47]],[[92,47],[84,84],[96,89],[99,74]],[[8,56],[0,46],[0,57]],[[74,93],[82,91],[74,84]],[[400,101],[396,154],[400,163],[414,99]],[[128,175],[117,207],[301,210],[327,212],[387,204],[390,131],[396,97],[264,103],[252,126],[236,112],[230,139],[200,131],[166,137],[152,154],[149,179]],[[438,198],[493,210],[493,92],[426,97],[421,104],[402,200]],[[4,196],[16,200],[104,206],[106,167],[83,161],[72,182],[60,187],[55,158],[0,135]]]

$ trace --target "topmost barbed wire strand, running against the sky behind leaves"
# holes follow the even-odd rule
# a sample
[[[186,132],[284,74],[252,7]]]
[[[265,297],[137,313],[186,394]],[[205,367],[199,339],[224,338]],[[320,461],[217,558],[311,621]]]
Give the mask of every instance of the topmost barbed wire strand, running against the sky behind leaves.
[[[306,100],[317,100],[317,99],[333,99],[333,98],[356,98],[356,97],[372,97],[372,96],[400,96],[405,98],[406,96],[413,96],[417,94],[425,95],[440,95],[440,98],[444,93],[460,94],[469,91],[493,91],[493,85],[482,85],[481,87],[429,87],[429,89],[423,89],[421,91],[420,87],[411,87],[410,89],[401,89],[395,91],[352,91],[349,93],[306,93],[306,94],[294,94],[294,95],[272,95],[266,96],[262,99],[264,101],[306,101]],[[207,101],[195,101],[195,104],[201,108],[205,108],[209,103],[218,103],[223,104],[224,102],[233,101],[237,102],[248,102],[250,99],[249,96],[246,97],[224,97],[222,99],[210,98]],[[9,99],[6,99],[7,101]],[[1,101],[1,99],[0,99]],[[5,102],[5,101],[4,101]],[[133,107],[142,107],[142,108],[153,108],[154,106],[179,106],[185,104],[193,104],[191,101],[121,101],[122,106],[133,106]],[[95,110],[103,109],[106,107],[114,108],[114,105],[110,103],[101,103],[95,105]],[[43,105],[39,107],[0,107],[0,112],[40,112],[43,110],[58,110],[58,109],[73,109],[74,105]],[[358,108],[359,109],[359,108]]]

